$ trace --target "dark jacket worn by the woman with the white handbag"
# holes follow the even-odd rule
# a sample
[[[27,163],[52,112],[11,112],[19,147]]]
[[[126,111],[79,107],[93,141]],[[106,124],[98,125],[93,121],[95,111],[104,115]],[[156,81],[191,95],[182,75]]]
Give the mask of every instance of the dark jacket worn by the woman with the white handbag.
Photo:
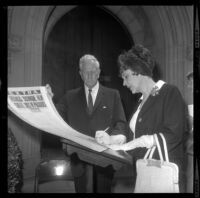
[[[177,87],[164,84],[155,96],[150,95],[138,114],[135,137],[163,133],[168,147],[169,160],[183,160],[183,141],[186,132],[186,105]],[[162,139],[158,136],[162,145]],[[163,145],[162,145],[163,148]],[[131,151],[133,157],[143,158],[146,149]],[[155,156],[158,158],[158,153]]]

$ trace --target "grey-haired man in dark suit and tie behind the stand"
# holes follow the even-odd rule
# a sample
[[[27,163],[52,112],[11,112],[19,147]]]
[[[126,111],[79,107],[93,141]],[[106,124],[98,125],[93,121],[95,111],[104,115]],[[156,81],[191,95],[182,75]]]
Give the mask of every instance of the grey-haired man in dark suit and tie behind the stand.
[[[94,56],[83,56],[79,61],[79,69],[84,85],[68,91],[56,108],[70,126],[95,137],[98,143],[123,144],[126,141],[126,119],[119,92],[99,83],[101,70]],[[91,165],[81,161],[76,154],[72,154],[70,158],[76,192],[92,192],[92,185],[88,185],[91,181],[95,192],[111,192],[114,174],[111,165],[105,168]],[[89,174],[91,167],[93,177]]]

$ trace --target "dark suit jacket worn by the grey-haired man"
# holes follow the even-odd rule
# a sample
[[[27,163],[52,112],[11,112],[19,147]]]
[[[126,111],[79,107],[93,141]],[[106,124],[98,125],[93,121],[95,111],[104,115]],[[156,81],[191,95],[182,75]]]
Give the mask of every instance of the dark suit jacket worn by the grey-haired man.
[[[68,91],[56,108],[72,128],[83,134],[95,137],[97,130],[110,127],[109,134],[125,135],[126,118],[117,90],[99,85],[91,115],[88,114],[84,86]]]

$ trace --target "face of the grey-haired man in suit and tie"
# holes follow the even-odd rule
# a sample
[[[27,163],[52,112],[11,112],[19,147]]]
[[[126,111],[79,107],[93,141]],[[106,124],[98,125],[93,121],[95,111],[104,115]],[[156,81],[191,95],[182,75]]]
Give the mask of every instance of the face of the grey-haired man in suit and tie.
[[[100,69],[97,68],[95,63],[91,62],[90,60],[86,60],[80,70],[81,78],[84,84],[92,88],[96,85],[97,80],[99,78]]]

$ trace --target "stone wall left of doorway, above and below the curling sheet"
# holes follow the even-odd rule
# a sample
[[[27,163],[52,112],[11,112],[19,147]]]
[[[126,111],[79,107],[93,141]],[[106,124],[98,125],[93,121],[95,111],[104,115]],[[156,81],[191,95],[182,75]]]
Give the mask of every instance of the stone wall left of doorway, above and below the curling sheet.
[[[8,12],[8,86],[41,85],[42,40],[48,6],[13,6]],[[8,127],[22,150],[23,176],[31,177],[40,161],[40,133],[11,114]]]

